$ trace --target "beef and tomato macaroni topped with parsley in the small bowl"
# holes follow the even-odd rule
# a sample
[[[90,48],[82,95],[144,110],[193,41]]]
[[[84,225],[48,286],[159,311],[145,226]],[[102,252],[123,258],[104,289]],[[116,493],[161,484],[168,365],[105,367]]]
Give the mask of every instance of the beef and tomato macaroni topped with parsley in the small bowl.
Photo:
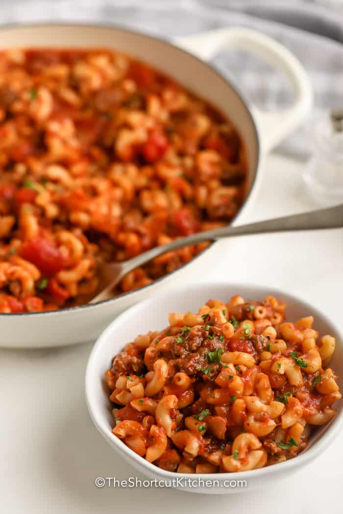
[[[335,416],[341,394],[335,372],[323,368],[334,338],[317,343],[313,317],[285,322],[284,310],[274,297],[209,300],[138,336],[105,373],[119,406],[113,434],[179,473],[248,471],[295,457],[312,428]]]

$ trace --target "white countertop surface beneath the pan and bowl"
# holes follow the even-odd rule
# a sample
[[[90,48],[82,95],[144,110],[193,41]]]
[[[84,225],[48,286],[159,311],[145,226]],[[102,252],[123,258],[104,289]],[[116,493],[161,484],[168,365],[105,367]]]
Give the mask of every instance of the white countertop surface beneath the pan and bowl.
[[[254,213],[263,219],[314,207],[302,164],[267,157]],[[343,329],[343,230],[246,236],[222,241],[183,271],[194,281],[226,280],[283,288],[334,318]],[[0,326],[1,330],[1,326]],[[96,488],[98,476],[137,472],[118,460],[89,418],[84,371],[91,345],[0,350],[0,510],[6,514],[175,512],[319,514],[341,512],[343,437],[292,478],[249,493],[210,496],[172,489]],[[142,478],[140,476],[140,478]]]

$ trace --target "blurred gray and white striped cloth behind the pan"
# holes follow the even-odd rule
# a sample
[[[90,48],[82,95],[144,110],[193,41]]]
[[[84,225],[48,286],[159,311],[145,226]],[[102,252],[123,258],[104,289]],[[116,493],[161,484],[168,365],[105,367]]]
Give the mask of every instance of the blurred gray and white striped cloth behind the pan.
[[[2,23],[113,22],[170,38],[218,27],[260,30],[296,54],[315,93],[313,112],[280,145],[284,153],[302,157],[311,153],[315,120],[328,115],[330,108],[343,107],[342,0],[2,0],[0,13]],[[214,60],[259,107],[273,111],[291,102],[292,90],[282,74],[260,60],[237,51],[227,51]]]

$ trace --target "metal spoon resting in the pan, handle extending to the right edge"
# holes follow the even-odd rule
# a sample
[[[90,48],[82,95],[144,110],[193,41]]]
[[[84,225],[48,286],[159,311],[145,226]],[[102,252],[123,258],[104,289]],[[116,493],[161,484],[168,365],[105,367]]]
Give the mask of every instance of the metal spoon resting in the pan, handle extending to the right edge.
[[[183,246],[215,241],[222,237],[233,235],[263,234],[266,232],[285,232],[290,230],[318,230],[325,228],[343,227],[343,204],[328,209],[294,214],[266,221],[241,225],[239,227],[221,227],[207,232],[197,232],[187,237],[181,237],[167,245],[156,246],[147,252],[124,262],[105,264],[101,270],[103,286],[98,288],[97,295],[89,303],[100,302],[109,298],[109,293],[115,285],[130,271],[146,264],[158,255],[177,250]]]

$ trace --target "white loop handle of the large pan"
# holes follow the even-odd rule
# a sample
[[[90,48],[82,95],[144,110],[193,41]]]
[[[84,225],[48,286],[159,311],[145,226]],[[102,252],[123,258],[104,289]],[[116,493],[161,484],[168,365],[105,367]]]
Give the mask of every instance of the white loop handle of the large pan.
[[[225,48],[246,50],[285,72],[295,89],[295,100],[289,108],[267,113],[255,105],[250,106],[264,151],[272,150],[290,134],[313,105],[312,86],[298,59],[280,43],[260,32],[246,28],[220,28],[178,38],[174,43],[205,61]]]

